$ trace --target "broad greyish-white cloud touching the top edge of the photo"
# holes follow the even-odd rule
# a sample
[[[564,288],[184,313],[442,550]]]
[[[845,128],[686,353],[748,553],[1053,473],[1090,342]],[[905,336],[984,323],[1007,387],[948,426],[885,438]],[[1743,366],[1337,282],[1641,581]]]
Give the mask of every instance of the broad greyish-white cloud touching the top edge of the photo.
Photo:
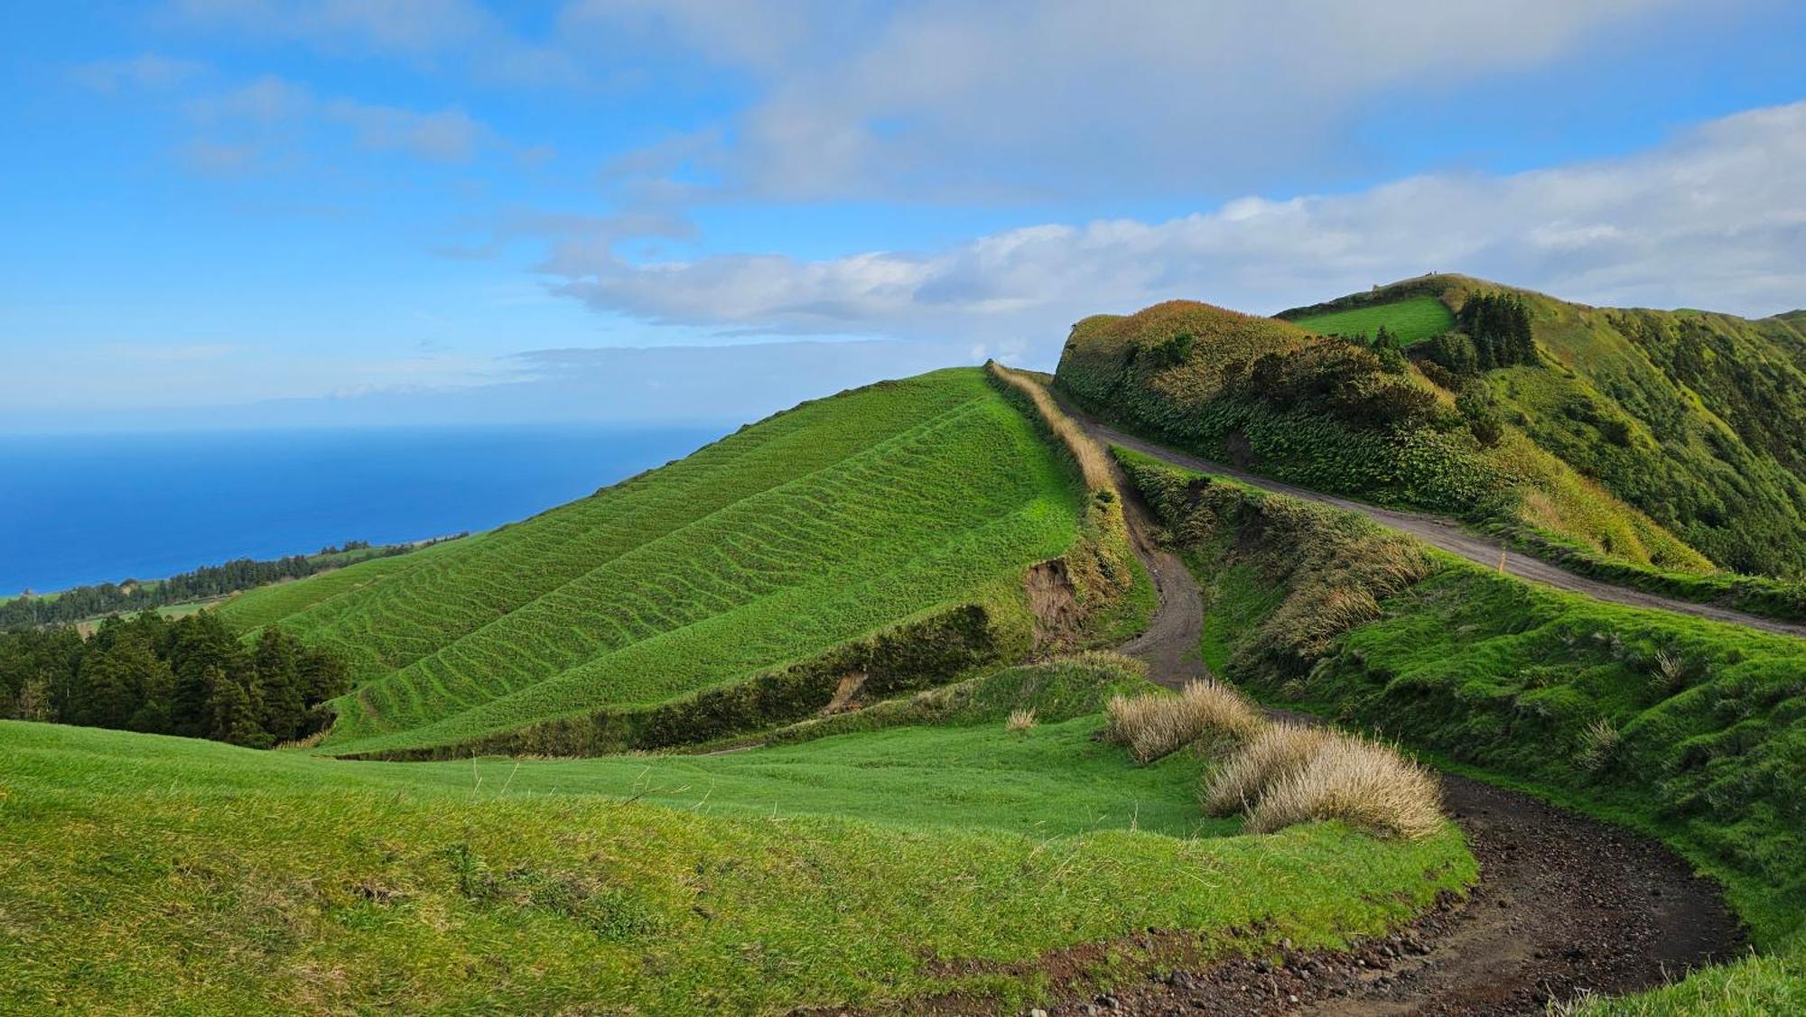
[[[1022,198],[1253,188],[1306,155],[1347,159],[1349,114],[1374,96],[1541,67],[1681,7],[583,0],[567,7],[565,34],[603,49],[625,36],[749,76],[759,99],[721,151],[731,188],[802,200]]]

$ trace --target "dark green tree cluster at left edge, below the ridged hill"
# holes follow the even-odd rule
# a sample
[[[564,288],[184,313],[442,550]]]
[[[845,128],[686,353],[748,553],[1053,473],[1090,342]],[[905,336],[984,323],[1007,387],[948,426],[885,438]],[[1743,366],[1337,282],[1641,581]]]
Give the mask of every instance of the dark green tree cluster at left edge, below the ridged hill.
[[[338,656],[265,628],[246,646],[217,615],[155,611],[0,633],[0,718],[211,738],[269,748],[330,723]]]

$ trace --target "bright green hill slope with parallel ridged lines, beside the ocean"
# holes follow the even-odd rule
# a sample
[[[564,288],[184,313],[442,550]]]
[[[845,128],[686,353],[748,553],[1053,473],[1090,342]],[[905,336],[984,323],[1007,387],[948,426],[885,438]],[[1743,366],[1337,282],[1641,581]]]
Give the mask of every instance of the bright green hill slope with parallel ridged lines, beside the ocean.
[[[907,671],[937,638],[968,665],[1020,655],[1024,568],[1073,545],[1080,501],[1024,415],[981,371],[948,370],[807,402],[533,519],[222,613],[352,662],[329,752],[507,748],[498,734],[598,710],[587,745],[630,745],[623,712],[905,618],[926,626],[883,647],[905,660],[838,665]],[[961,604],[973,609],[950,613]],[[511,747],[569,750],[542,734]]]

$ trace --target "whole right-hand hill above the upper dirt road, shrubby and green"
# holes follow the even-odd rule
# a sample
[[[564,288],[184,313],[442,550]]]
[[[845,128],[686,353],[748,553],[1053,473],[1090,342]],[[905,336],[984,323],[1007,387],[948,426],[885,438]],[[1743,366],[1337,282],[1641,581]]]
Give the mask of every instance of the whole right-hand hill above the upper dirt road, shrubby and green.
[[[1522,308],[1533,344],[1490,366],[1454,334],[1400,357],[1297,325],[1407,334],[1425,301],[1454,321],[1488,296]],[[1465,364],[1448,357],[1461,346]],[[1279,319],[1188,301],[1089,317],[1057,377],[1100,417],[1217,462],[1459,516],[1573,572],[1799,620],[1802,362],[1781,317],[1584,308],[1427,276]]]

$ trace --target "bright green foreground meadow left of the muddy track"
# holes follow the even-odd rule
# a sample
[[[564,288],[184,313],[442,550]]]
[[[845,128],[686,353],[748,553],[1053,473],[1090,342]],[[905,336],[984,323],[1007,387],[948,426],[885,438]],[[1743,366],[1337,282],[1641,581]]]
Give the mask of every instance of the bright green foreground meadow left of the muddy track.
[[[1201,759],[1093,738],[1145,687],[1093,655],[713,757],[347,763],[0,723],[0,1010],[1019,1006],[1067,947],[1112,943],[1107,985],[1158,963],[1129,939],[1150,927],[1327,945],[1474,878],[1452,826],[1201,819]],[[1008,730],[1017,709],[1046,719]]]

